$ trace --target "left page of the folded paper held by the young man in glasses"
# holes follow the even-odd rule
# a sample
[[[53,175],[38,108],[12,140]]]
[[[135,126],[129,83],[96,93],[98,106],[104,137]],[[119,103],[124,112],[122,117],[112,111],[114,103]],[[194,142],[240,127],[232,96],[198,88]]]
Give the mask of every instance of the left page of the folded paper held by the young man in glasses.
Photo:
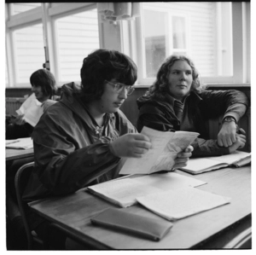
[[[144,154],[142,158],[126,159],[120,174],[148,174],[152,166],[155,164],[156,160],[160,157],[166,147],[167,142],[170,141],[174,133],[172,132],[161,132],[158,130],[148,129],[143,127],[142,132],[150,138],[152,143],[152,148],[148,150],[147,154]]]

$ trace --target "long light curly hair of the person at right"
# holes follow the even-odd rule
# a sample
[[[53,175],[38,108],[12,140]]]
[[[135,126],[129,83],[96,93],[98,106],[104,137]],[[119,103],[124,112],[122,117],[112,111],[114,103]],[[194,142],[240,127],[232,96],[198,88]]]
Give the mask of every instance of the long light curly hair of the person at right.
[[[168,93],[168,77],[171,71],[171,67],[176,61],[187,61],[192,69],[193,82],[191,84],[191,91],[201,92],[202,85],[198,78],[199,73],[197,72],[193,61],[191,61],[189,57],[184,55],[171,55],[161,65],[159,71],[157,72],[154,84],[149,87],[145,96],[150,96],[152,98],[160,100],[165,98],[166,93]]]

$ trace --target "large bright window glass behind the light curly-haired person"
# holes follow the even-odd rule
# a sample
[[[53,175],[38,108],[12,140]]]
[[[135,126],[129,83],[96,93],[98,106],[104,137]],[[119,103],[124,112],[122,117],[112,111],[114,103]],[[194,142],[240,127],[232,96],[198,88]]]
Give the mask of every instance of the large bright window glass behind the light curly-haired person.
[[[170,55],[187,55],[201,77],[232,77],[231,2],[142,3],[136,21],[138,84],[153,82]],[[138,37],[137,34],[141,33]],[[214,79],[212,79],[214,80]]]

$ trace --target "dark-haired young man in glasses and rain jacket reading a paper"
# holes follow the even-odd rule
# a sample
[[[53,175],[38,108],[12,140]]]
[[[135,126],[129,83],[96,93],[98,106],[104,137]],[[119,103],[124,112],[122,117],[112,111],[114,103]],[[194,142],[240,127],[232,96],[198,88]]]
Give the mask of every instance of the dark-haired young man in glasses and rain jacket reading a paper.
[[[93,173],[100,183],[118,177],[122,158],[140,158],[151,147],[119,110],[134,90],[135,63],[118,51],[97,49],[84,58],[80,75],[81,85],[64,84],[61,101],[34,129],[35,168],[26,202],[73,193],[93,181]],[[177,155],[175,167],[186,165],[192,149]],[[44,236],[46,224],[36,218],[30,217],[32,229]]]

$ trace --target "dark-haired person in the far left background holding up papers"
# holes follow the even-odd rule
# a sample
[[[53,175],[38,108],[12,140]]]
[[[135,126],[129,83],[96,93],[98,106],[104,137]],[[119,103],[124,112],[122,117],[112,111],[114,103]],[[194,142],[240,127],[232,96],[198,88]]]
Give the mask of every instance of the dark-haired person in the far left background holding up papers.
[[[32,93],[35,94],[38,101],[42,102],[44,111],[59,100],[60,96],[56,96],[57,86],[55,84],[54,75],[46,69],[39,69],[33,72],[30,77],[32,85]],[[26,123],[23,119],[24,115],[7,118],[6,139],[16,139],[21,137],[32,136],[32,125]]]

